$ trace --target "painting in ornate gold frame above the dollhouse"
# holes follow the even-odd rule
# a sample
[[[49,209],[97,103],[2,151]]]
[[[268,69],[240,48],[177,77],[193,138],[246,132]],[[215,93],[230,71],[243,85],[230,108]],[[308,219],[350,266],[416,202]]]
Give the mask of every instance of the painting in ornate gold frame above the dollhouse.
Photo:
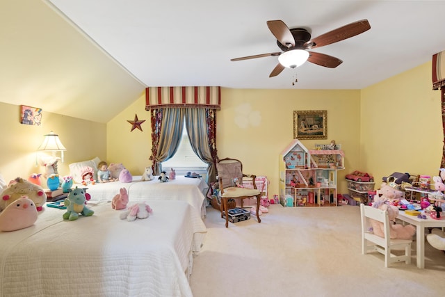
[[[293,111],[293,138],[327,139],[327,111]]]

